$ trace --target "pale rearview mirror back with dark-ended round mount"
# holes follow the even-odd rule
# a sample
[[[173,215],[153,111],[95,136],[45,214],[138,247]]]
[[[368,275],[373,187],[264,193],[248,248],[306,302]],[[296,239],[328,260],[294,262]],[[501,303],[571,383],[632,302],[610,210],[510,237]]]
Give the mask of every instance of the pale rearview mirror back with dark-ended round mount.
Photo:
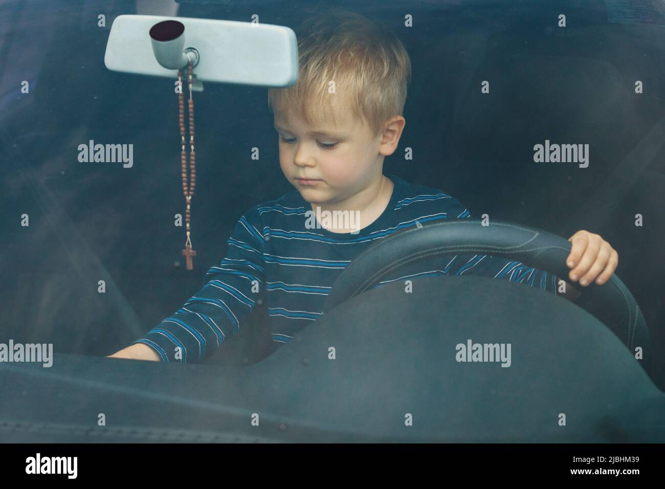
[[[281,25],[190,17],[119,15],[104,64],[112,71],[177,78],[192,59],[196,81],[290,86],[298,75],[295,33]]]

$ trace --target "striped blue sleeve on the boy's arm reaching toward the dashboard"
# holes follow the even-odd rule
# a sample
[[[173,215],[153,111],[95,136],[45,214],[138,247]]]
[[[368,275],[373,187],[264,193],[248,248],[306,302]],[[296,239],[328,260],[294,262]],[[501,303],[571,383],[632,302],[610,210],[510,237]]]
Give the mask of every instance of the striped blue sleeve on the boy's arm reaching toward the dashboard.
[[[196,363],[237,333],[265,283],[260,222],[257,208],[241,216],[227,242],[226,257],[207,271],[203,288],[134,343],[148,345],[164,362]]]

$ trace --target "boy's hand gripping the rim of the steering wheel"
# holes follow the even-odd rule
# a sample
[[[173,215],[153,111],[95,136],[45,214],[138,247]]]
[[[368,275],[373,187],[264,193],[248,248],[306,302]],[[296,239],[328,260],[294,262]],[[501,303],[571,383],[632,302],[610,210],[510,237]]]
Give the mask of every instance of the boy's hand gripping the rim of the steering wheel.
[[[619,255],[608,242],[600,238],[599,234],[593,234],[585,230],[578,231],[568,240],[573,244],[571,254],[566,258],[566,264],[572,270],[569,278],[587,287],[593,280],[602,285],[610,279]]]

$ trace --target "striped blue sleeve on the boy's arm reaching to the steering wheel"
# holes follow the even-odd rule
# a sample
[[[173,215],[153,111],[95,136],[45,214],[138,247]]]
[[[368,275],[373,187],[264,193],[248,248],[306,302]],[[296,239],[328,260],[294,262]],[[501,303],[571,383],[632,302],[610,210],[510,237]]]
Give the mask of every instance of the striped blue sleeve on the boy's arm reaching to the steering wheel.
[[[467,219],[471,217],[469,211],[456,198],[453,198],[450,204],[452,208],[448,211],[449,218]],[[519,261],[492,255],[455,255],[452,260],[446,263],[446,273],[448,275],[473,274],[509,280],[530,287],[538,287],[555,294],[559,281],[555,275],[547,271],[530,267]]]

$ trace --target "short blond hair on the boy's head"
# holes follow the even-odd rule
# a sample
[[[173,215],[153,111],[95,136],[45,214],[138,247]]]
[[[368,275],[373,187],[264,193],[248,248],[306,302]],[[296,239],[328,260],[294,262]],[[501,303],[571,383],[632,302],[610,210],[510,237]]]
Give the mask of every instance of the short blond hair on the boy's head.
[[[271,113],[295,110],[309,125],[349,108],[376,136],[403,115],[411,61],[402,41],[356,13],[328,9],[296,30],[299,75],[293,86],[268,89]],[[329,93],[334,82],[334,93]]]

